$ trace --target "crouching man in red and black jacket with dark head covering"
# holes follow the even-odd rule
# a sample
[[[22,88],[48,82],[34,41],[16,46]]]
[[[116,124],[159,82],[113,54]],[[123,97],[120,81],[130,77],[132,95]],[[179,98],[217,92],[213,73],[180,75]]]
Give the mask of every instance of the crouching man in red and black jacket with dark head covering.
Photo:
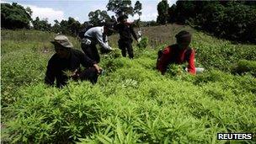
[[[175,35],[177,44],[169,45],[162,53],[158,54],[157,70],[164,74],[167,71],[169,64],[183,64],[188,62],[186,71],[195,75],[197,69],[195,68],[195,50],[189,47],[191,42],[191,35],[188,31],[182,30],[178,35]],[[199,68],[198,72],[204,71]]]

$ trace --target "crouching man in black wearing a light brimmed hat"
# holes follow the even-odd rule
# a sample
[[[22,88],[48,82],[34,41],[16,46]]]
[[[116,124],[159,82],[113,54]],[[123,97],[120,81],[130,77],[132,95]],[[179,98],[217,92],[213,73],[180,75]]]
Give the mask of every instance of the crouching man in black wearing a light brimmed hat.
[[[45,74],[45,83],[51,86],[54,85],[61,88],[67,84],[68,78],[88,80],[91,83],[96,83],[99,77],[101,68],[96,61],[85,56],[82,51],[72,49],[72,43],[65,35],[57,35],[51,43],[55,47],[56,53],[51,56],[48,61],[48,66]],[[81,71],[80,64],[85,67]],[[70,76],[66,72],[72,72]]]

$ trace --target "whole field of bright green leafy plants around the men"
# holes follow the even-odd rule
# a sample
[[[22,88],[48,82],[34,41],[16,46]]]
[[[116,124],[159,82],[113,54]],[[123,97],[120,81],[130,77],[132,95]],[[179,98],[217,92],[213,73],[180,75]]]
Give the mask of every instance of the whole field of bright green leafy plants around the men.
[[[164,43],[135,46],[134,60],[121,57],[114,45],[115,51],[101,56],[106,73],[98,83],[70,82],[58,89],[44,84],[55,34],[2,30],[2,141],[256,142],[216,140],[220,132],[256,131],[256,46],[192,32],[196,66],[206,68],[203,74],[191,76],[173,66],[162,76],[155,66]],[[78,40],[69,38],[79,49]]]

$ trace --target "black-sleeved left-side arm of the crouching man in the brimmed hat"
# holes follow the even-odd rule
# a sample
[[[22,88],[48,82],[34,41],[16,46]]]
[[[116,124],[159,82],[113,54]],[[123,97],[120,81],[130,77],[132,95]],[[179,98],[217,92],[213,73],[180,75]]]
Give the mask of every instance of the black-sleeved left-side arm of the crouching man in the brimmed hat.
[[[55,77],[56,77],[56,70],[54,68],[53,60],[51,58],[50,61],[48,62],[47,70],[45,73],[45,84],[53,86]]]

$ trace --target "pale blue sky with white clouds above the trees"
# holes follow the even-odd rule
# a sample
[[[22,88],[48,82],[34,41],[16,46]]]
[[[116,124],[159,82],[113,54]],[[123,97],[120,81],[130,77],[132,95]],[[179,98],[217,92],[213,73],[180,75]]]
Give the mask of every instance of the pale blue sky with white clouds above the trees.
[[[161,0],[140,0],[142,3],[142,21],[157,20],[157,3]],[[168,0],[169,6],[176,3],[177,0]],[[1,3],[19,3],[24,8],[32,9],[32,19],[39,17],[47,19],[50,24],[54,24],[54,20],[61,21],[72,17],[80,23],[88,21],[88,13],[97,9],[107,10],[106,5],[109,0],[1,0]],[[131,0],[132,6],[136,0]],[[109,16],[115,13],[108,12]],[[129,21],[138,19],[139,16],[129,16]]]

